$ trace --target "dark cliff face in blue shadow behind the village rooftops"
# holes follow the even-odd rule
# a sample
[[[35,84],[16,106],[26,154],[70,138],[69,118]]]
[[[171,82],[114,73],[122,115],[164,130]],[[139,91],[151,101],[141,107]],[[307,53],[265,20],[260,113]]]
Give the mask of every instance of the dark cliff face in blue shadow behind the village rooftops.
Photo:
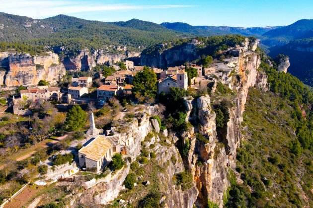
[[[187,43],[162,52],[154,51],[147,53],[144,51],[141,53],[140,63],[142,66],[147,65],[165,69],[195,59],[197,59],[196,46],[192,43]]]

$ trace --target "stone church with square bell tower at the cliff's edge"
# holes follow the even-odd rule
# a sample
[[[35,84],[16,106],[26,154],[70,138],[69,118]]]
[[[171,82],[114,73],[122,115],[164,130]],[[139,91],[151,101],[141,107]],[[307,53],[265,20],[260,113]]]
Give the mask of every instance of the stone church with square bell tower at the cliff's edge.
[[[160,79],[157,84],[158,94],[168,93],[170,88],[178,87],[187,90],[188,78],[184,70],[179,70],[177,74]]]

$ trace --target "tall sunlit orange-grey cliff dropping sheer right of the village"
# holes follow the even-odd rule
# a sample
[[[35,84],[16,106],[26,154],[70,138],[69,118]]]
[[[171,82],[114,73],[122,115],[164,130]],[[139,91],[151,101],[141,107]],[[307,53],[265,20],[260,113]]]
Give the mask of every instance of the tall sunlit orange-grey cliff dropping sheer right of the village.
[[[199,207],[206,207],[208,200],[223,207],[223,195],[230,185],[228,171],[229,168],[235,169],[236,148],[242,137],[239,125],[242,121],[248,88],[258,86],[267,90],[267,77],[257,70],[260,57],[254,52],[255,49],[255,44],[246,42],[244,47],[231,49],[239,54],[238,57],[225,59],[223,63],[213,65],[217,69],[214,73],[215,77],[236,92],[233,106],[228,107],[230,119],[223,138],[217,134],[216,115],[211,109],[210,97],[202,96],[192,102],[193,113],[189,120],[199,123],[195,131],[209,139],[206,144],[197,140],[191,142],[194,145],[191,145],[188,162],[185,162],[194,175],[199,192],[195,204]],[[234,79],[231,71],[239,77]],[[189,139],[194,140],[192,137]],[[190,158],[192,158],[191,162]]]

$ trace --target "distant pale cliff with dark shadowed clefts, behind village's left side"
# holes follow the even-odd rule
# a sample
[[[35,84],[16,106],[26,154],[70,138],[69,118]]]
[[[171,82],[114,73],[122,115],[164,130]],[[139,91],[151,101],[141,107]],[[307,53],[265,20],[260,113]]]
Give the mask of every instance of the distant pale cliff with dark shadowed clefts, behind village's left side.
[[[105,63],[116,63],[127,56],[125,54],[106,53],[103,50],[88,49],[81,50],[78,55],[68,56],[62,59],[62,62],[67,70],[88,71],[96,64],[102,65]]]

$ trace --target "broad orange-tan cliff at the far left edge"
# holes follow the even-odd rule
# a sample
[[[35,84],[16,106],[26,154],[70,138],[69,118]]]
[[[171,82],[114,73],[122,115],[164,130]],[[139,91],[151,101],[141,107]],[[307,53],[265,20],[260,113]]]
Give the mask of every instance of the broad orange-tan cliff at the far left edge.
[[[65,75],[64,65],[53,52],[36,56],[0,52],[0,67],[5,69],[0,81],[6,86],[37,85],[42,79],[53,84]]]

